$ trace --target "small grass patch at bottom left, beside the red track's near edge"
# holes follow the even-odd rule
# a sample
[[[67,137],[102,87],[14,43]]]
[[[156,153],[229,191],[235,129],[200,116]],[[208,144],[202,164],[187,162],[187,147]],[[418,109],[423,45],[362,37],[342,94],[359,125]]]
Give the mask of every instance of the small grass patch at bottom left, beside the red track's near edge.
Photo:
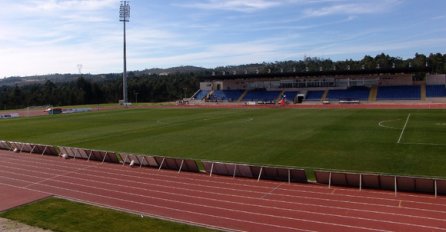
[[[0,217],[60,232],[211,231],[59,198],[48,198],[0,213]]]

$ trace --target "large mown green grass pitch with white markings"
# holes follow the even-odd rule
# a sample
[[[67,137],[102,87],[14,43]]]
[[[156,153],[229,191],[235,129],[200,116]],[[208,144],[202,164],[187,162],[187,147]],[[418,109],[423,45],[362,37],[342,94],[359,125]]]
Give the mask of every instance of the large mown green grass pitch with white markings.
[[[2,140],[440,177],[445,135],[445,110],[129,109],[0,121]]]

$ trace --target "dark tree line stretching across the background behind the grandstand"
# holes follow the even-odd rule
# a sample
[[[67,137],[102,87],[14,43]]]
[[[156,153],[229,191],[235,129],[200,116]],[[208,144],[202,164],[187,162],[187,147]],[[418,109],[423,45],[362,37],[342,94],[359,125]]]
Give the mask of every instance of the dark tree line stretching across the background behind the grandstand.
[[[282,61],[239,66],[217,67],[215,69],[197,69],[191,71],[175,69],[169,75],[151,74],[142,71],[129,72],[128,96],[131,102],[165,102],[191,97],[199,89],[202,80],[212,79],[212,72],[297,72],[308,70],[333,70],[349,67],[351,70],[373,69],[379,67],[424,67],[426,64],[433,73],[446,73],[446,54],[436,53],[425,56],[415,54],[413,58],[402,59],[384,53],[375,57],[364,56],[361,60],[332,61],[321,58],[305,58],[301,61]],[[216,77],[217,78],[217,77]],[[104,78],[80,76],[75,81],[1,86],[1,109],[17,109],[42,105],[84,105],[117,103],[122,99],[122,74],[107,74]]]

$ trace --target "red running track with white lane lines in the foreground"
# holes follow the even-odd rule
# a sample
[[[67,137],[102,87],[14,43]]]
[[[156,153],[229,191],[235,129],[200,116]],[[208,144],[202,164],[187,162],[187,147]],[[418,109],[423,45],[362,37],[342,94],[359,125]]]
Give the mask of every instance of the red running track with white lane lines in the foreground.
[[[446,231],[446,197],[0,151],[0,185],[231,231]]]

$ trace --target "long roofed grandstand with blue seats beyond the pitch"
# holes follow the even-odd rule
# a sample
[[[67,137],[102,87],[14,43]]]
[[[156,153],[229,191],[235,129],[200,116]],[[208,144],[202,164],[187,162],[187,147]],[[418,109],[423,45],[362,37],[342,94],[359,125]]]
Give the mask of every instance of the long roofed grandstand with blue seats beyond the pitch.
[[[196,100],[273,103],[281,95],[288,103],[332,101],[339,103],[426,100],[446,98],[446,75],[427,68],[320,71],[212,76],[200,83]],[[426,77],[420,79],[420,73]],[[423,74],[424,75],[424,74]],[[216,80],[217,79],[217,80]],[[209,95],[209,98],[206,96]]]

